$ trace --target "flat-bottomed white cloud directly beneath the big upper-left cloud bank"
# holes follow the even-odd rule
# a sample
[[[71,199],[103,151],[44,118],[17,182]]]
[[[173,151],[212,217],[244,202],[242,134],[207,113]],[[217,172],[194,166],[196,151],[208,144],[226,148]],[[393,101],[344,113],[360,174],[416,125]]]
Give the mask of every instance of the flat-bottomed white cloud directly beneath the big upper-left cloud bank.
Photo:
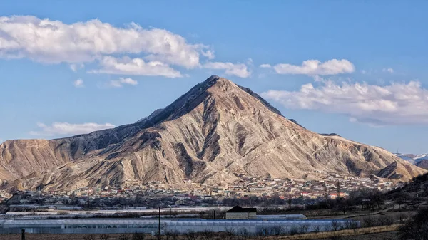
[[[159,61],[146,62],[141,58],[113,58],[103,57],[100,61],[101,68],[89,71],[89,73],[108,73],[121,75],[151,75],[164,76],[167,78],[182,77],[179,71]]]

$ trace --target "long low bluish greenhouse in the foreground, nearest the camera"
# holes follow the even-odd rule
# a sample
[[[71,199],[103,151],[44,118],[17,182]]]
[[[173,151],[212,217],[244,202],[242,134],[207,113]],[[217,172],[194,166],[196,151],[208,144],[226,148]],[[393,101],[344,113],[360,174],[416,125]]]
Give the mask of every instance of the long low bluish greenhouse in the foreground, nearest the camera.
[[[161,232],[186,233],[188,231],[234,231],[247,234],[274,234],[277,232],[332,231],[360,227],[360,221],[352,220],[205,220],[161,219]],[[158,219],[16,219],[0,221],[0,233],[20,233],[25,229],[34,234],[116,234],[156,233]]]

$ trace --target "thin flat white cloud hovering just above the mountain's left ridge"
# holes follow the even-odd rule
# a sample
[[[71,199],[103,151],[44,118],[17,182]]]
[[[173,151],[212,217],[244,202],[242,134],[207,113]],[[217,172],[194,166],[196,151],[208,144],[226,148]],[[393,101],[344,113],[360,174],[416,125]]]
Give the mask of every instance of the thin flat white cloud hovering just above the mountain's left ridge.
[[[68,122],[54,122],[48,126],[44,123],[37,123],[37,126],[41,128],[39,131],[29,132],[31,135],[38,136],[55,136],[55,135],[78,135],[98,130],[104,130],[115,127],[111,123],[98,124],[98,123],[83,123],[83,124],[71,124]]]

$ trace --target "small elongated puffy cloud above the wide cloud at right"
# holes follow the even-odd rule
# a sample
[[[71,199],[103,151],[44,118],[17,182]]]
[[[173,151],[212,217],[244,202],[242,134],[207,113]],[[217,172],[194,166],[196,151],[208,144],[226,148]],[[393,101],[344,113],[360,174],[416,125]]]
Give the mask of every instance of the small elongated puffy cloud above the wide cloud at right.
[[[355,71],[354,64],[346,59],[332,59],[322,63],[319,60],[303,61],[302,65],[296,66],[280,63],[273,66],[278,74],[304,74],[304,75],[337,75],[340,73],[352,73]]]

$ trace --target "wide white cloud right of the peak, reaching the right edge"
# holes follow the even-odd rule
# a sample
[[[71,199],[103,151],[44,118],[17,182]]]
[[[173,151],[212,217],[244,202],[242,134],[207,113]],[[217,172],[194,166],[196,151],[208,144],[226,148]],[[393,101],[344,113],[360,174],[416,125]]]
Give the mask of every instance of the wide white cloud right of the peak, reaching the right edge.
[[[269,90],[263,97],[286,108],[341,113],[369,125],[428,124],[428,90],[418,81],[379,86],[367,83],[311,83],[298,91]]]

